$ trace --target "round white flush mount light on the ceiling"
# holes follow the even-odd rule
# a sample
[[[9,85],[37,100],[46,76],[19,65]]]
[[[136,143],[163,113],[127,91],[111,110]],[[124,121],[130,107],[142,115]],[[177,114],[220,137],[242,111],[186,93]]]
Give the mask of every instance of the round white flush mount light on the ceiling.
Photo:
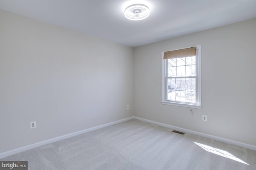
[[[129,20],[143,20],[149,16],[149,8],[144,4],[132,4],[124,10],[124,16]]]

